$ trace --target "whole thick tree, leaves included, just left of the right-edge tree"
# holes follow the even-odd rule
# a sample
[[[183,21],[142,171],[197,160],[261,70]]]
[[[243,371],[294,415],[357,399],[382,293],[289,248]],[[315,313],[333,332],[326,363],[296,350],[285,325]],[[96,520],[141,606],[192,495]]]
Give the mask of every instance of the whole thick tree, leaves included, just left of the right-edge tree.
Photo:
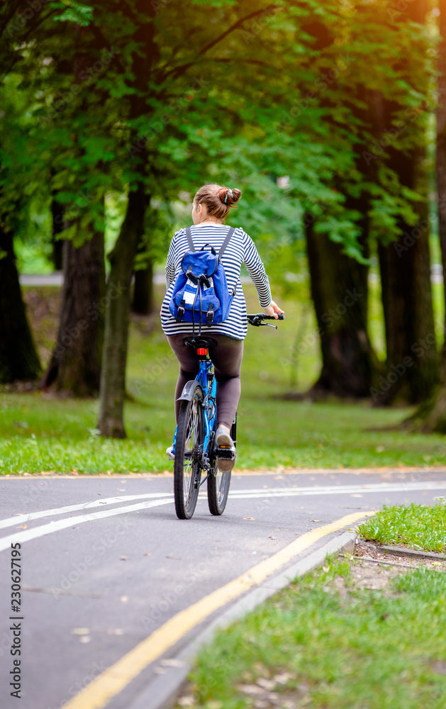
[[[394,96],[375,91],[369,104],[374,140],[364,158],[369,164],[381,164],[377,172],[381,169],[384,179],[400,186],[407,205],[396,214],[393,238],[386,229],[377,235],[386,333],[386,373],[374,395],[379,405],[424,401],[438,380],[425,165],[429,87],[425,57],[430,45],[425,13],[424,0],[396,13],[398,42],[410,46],[410,59],[398,67],[407,89]]]

